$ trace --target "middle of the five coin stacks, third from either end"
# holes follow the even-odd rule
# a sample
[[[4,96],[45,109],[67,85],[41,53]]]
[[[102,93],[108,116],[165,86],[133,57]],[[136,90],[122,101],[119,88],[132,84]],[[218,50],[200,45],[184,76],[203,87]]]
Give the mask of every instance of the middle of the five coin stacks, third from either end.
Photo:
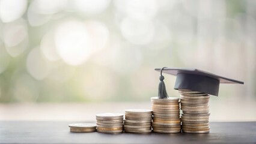
[[[129,109],[125,110],[124,132],[150,133],[152,110]]]

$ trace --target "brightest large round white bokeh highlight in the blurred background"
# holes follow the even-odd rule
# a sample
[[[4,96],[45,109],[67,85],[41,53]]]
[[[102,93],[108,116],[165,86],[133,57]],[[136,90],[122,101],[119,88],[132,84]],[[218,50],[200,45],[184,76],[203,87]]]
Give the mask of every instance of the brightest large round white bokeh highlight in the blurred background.
[[[84,23],[67,20],[56,29],[55,44],[58,55],[70,65],[80,65],[91,55],[91,39]]]

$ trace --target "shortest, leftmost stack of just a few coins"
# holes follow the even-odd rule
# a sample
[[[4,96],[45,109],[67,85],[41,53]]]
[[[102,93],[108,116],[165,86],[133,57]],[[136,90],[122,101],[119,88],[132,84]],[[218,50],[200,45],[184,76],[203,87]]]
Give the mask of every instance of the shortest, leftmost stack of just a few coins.
[[[70,124],[70,131],[75,133],[91,133],[96,131],[96,124]]]

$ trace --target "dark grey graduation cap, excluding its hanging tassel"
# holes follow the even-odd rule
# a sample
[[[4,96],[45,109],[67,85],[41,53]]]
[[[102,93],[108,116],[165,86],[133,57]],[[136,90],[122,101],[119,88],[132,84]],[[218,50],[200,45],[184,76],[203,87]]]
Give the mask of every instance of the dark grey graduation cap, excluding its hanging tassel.
[[[160,71],[161,68],[155,68],[154,70]],[[228,79],[195,68],[164,68],[162,72],[177,76],[174,89],[187,89],[216,96],[219,93],[219,83],[243,84],[239,80]]]

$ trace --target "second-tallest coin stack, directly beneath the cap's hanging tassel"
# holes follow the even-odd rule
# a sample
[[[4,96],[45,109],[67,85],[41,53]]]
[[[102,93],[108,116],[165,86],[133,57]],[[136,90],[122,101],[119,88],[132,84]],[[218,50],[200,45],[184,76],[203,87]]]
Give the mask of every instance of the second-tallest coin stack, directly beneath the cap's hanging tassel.
[[[180,98],[152,97],[153,131],[157,133],[180,133]]]

